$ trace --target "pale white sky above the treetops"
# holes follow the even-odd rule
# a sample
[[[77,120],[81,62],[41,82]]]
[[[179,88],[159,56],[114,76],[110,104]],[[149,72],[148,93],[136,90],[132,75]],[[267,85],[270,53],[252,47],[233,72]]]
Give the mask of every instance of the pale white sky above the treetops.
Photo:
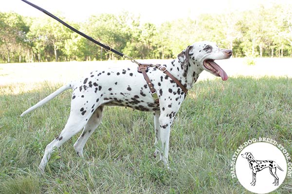
[[[21,0],[1,0],[0,12],[13,11],[23,16],[44,14]],[[67,19],[82,22],[91,15],[129,11],[142,22],[161,24],[178,18],[196,18],[200,14],[255,9],[263,4],[292,4],[292,0],[29,0],[48,12],[61,13]]]

